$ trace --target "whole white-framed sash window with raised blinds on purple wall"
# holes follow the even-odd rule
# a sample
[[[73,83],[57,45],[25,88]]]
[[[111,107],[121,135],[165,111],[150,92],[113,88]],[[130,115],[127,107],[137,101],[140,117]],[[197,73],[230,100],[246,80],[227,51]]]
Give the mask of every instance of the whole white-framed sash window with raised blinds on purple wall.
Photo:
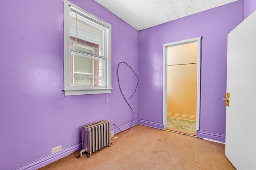
[[[65,0],[65,96],[111,90],[111,25]]]

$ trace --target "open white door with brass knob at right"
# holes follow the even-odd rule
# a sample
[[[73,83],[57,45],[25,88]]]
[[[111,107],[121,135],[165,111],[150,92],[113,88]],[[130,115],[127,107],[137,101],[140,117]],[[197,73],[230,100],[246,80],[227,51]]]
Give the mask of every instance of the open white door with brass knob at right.
[[[226,157],[256,170],[256,12],[228,34]]]

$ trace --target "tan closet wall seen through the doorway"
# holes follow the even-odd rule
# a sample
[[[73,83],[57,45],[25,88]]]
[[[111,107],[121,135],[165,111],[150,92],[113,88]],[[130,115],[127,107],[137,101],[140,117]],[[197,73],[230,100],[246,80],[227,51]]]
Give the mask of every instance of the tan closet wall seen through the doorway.
[[[168,117],[196,120],[197,43],[168,47],[167,69]]]

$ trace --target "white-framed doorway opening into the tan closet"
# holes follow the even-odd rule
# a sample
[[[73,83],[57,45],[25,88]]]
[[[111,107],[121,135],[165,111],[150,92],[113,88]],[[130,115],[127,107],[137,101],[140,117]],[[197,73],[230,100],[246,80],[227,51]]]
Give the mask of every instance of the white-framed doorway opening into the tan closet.
[[[196,135],[200,123],[201,37],[163,45],[163,124]]]

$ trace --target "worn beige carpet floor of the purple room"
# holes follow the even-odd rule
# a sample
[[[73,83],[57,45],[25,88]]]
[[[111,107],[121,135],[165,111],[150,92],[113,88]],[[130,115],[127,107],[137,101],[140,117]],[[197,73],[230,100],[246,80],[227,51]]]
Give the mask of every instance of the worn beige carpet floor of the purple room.
[[[91,158],[76,151],[40,170],[235,170],[225,145],[142,125]]]

